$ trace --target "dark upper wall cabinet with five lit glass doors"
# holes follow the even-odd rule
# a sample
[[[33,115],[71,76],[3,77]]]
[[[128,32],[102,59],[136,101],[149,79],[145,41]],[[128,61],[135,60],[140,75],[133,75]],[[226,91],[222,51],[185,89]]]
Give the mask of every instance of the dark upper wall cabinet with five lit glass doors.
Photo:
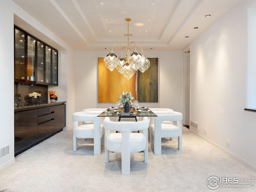
[[[14,82],[58,86],[58,50],[14,26]]]

